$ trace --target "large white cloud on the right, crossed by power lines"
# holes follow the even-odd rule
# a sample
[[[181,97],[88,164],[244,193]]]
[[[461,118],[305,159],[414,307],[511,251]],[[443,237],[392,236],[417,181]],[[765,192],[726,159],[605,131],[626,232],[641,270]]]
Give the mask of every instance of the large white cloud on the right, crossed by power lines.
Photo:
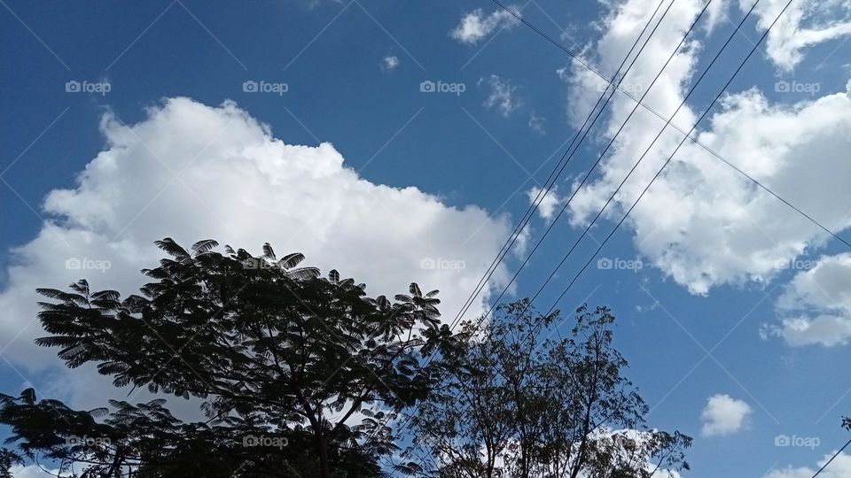
[[[629,0],[606,17],[603,37],[589,49],[603,71],[616,68],[615,62],[638,35],[647,15],[642,4]],[[677,2],[625,81],[646,89],[700,7],[693,0]],[[644,102],[664,116],[673,114],[693,81],[701,48],[692,41],[679,51]],[[571,85],[571,104],[592,104],[600,80],[576,65],[564,74]],[[613,135],[633,106],[632,100],[616,95],[604,135]],[[696,113],[686,106],[673,122],[688,130],[696,120]],[[601,163],[597,179],[574,198],[575,226],[584,226],[605,204],[660,129],[660,120],[651,113],[636,112]],[[851,226],[847,216],[851,194],[843,184],[843,178],[851,176],[851,163],[845,160],[848,137],[851,98],[846,91],[800,104],[773,103],[759,88],[734,92],[699,130],[702,143],[836,231]],[[681,138],[668,128],[606,210],[606,218],[621,219]],[[761,287],[829,237],[691,142],[677,152],[626,225],[644,257],[701,295],[723,284]]]

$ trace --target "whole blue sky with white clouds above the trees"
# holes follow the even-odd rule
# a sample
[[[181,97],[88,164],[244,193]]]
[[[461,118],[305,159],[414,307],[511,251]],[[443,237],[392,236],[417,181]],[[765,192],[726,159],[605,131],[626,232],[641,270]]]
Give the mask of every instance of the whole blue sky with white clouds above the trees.
[[[655,4],[514,6],[611,74]],[[778,4],[762,0],[675,124],[691,127]],[[700,6],[675,0],[660,40],[637,59],[636,79],[627,77],[625,86],[644,92],[676,44],[670,39],[683,35]],[[714,0],[647,102],[673,112],[749,6]],[[324,268],[349,270],[377,284],[374,293],[417,280],[441,289],[443,313],[454,318],[526,211],[528,191],[546,180],[599,95],[582,66],[496,11],[481,1],[4,0],[0,390],[16,393],[32,382],[94,406],[57,360],[44,351],[30,357],[39,352],[28,345],[39,335],[27,315],[35,311],[30,285],[61,287],[76,278],[68,258],[110,261],[103,274],[91,271],[92,281],[101,277],[98,288],[135,284],[136,271],[157,257],[148,244],[163,235],[183,242],[215,236],[254,249],[269,241],[278,251],[304,251]],[[702,142],[840,235],[851,226],[851,197],[837,187],[847,183],[851,143],[849,13],[840,1],[795,4],[769,35],[768,50],[761,45],[731,84],[724,113],[698,130]],[[465,21],[472,29],[453,35]],[[109,90],[69,92],[69,81]],[[246,81],[285,92],[245,91]],[[463,91],[424,93],[424,81]],[[633,104],[619,93],[612,106],[558,181],[556,207]],[[513,296],[535,294],[621,181],[624,165],[662,126],[642,110],[628,124],[588,192],[519,274]],[[270,135],[257,139],[264,131]],[[648,162],[660,166],[680,137],[664,135]],[[562,306],[587,301],[613,309],[629,375],[653,407],[649,424],[695,436],[693,470],[684,475],[806,475],[847,440],[839,420],[851,408],[851,382],[838,369],[851,358],[851,284],[842,281],[851,272],[849,251],[693,143],[681,153],[654,185],[658,192],[606,244],[601,257],[615,266],[595,260]],[[223,166],[240,155],[253,159],[246,167],[258,176]],[[231,174],[215,175],[222,171]],[[541,307],[558,297],[651,177],[651,169],[638,170],[614,212],[545,289]],[[269,204],[261,204],[264,195]],[[541,237],[552,219],[546,216],[531,221],[526,251],[507,257],[488,297]],[[347,240],[353,245],[340,244]],[[103,257],[91,252],[105,249]],[[402,252],[409,249],[412,256]],[[425,259],[464,266],[424,270]],[[793,267],[777,266],[790,261]],[[375,273],[382,268],[394,273]],[[781,435],[819,444],[776,446]],[[837,466],[845,467],[829,476],[851,475],[851,457],[842,459]]]

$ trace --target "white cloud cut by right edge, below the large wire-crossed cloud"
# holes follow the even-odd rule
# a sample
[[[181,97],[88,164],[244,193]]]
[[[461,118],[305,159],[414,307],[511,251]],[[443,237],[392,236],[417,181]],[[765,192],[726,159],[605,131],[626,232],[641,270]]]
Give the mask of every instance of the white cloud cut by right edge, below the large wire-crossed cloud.
[[[777,311],[782,325],[772,332],[789,345],[851,341],[851,254],[825,256],[796,274],[777,299]]]

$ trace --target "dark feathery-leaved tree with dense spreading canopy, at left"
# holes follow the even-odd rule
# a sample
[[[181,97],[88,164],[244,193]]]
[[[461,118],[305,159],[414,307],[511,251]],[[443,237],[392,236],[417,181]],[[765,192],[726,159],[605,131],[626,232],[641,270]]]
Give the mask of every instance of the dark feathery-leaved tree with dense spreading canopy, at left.
[[[32,389],[0,397],[0,423],[32,459],[43,453],[82,476],[379,476],[396,445],[386,414],[426,398],[449,347],[433,290],[416,283],[394,302],[366,297],[337,271],[320,278],[304,257],[184,250],[143,271],[140,295],[39,289],[39,318],[69,367],[97,364],[116,387],[197,397],[207,420],[185,423],[162,399],[76,411]],[[102,419],[102,420],[98,420]]]

